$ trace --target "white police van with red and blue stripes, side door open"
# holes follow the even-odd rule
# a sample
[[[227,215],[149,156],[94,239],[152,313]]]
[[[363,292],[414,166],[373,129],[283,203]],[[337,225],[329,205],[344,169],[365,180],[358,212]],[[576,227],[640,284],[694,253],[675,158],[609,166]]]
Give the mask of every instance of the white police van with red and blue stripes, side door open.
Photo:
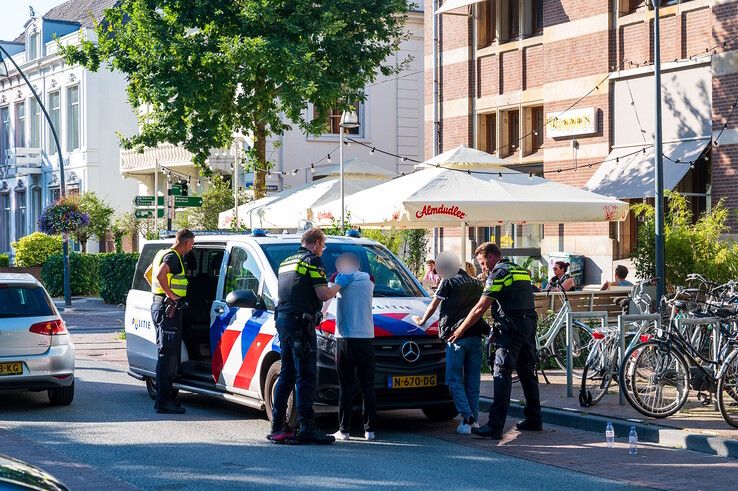
[[[156,329],[145,273],[156,253],[172,242],[157,240],[143,246],[126,301],[128,373],[146,383],[152,398],[156,396]],[[196,236],[195,247],[184,261],[188,307],[183,313],[175,392],[225,399],[266,411],[271,418],[281,367],[274,323],[277,271],[299,247],[300,236],[294,234],[254,231]],[[412,321],[430,303],[428,294],[388,249],[360,237],[327,238],[321,259],[329,277],[335,272],[336,258],[344,252],[359,257],[361,270],[375,279],[377,408],[422,409],[434,420],[453,418],[456,410],[445,385],[445,351],[438,338],[437,318],[424,327]],[[338,405],[335,313],[334,300],[316,327],[318,411]],[[290,398],[288,419],[296,419],[294,398]]]

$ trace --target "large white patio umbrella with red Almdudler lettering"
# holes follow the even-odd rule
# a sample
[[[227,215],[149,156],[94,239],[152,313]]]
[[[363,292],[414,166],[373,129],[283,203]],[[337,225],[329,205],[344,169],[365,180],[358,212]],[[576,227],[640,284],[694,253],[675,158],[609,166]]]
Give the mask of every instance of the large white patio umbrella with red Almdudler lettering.
[[[346,208],[352,224],[369,228],[617,221],[628,213],[628,204],[615,198],[514,172],[501,163],[458,147],[420,164],[412,174],[352,195]],[[314,211],[318,224],[326,224],[340,213],[340,204]]]

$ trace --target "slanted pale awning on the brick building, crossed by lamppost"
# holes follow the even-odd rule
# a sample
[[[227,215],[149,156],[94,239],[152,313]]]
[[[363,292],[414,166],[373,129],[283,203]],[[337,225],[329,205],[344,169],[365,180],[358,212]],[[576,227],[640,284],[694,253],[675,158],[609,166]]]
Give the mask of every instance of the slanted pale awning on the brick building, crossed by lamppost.
[[[679,184],[689,172],[689,163],[698,159],[707,145],[709,141],[706,140],[663,145],[664,189],[671,190]],[[600,164],[584,189],[620,199],[652,198],[656,188],[654,162],[653,147],[646,148],[645,153],[638,147],[613,149],[607,156],[607,162]],[[701,162],[695,162],[695,165],[700,164]]]

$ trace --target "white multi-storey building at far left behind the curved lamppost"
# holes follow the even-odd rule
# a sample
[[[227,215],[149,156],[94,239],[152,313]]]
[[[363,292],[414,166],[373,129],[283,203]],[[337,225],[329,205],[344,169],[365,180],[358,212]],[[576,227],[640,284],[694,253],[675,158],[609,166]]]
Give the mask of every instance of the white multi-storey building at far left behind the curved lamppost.
[[[15,41],[0,41],[28,77],[56,128],[68,194],[94,191],[116,210],[130,211],[137,185],[118,170],[116,132],[130,134],[137,118],[125,93],[125,77],[105,68],[92,73],[70,66],[57,40],[94,39],[91,15],[114,0],[70,0],[32,17]],[[81,8],[84,6],[85,8]],[[59,153],[51,127],[31,89],[10,60],[0,78],[0,253],[38,230],[43,208],[60,196]],[[98,248],[90,241],[89,250]]]

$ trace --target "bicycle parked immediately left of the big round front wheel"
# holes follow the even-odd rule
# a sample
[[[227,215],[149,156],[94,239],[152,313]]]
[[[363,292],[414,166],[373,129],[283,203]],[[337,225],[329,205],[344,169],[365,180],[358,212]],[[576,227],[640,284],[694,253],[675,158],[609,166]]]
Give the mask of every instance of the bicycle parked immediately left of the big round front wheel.
[[[632,302],[641,314],[648,313],[651,308],[651,296],[645,292],[645,286],[652,284],[654,279],[638,282],[628,297],[621,299],[618,304],[623,314],[628,312]],[[626,332],[626,350],[638,342],[646,341],[645,333],[650,323],[638,321],[629,323],[634,330]],[[620,331],[617,328],[595,329],[592,332],[592,346],[582,372],[582,386],[579,390],[579,405],[591,407],[605,397],[613,382],[618,383],[620,366]]]

